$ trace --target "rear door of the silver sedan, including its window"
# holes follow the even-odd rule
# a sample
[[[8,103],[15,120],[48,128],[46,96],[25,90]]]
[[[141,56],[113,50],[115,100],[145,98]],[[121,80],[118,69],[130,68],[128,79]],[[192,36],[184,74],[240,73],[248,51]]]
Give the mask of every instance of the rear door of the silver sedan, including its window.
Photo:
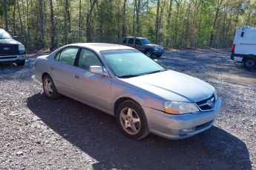
[[[73,94],[73,65],[78,51],[79,47],[66,47],[56,54],[50,66],[56,89],[65,95]]]

